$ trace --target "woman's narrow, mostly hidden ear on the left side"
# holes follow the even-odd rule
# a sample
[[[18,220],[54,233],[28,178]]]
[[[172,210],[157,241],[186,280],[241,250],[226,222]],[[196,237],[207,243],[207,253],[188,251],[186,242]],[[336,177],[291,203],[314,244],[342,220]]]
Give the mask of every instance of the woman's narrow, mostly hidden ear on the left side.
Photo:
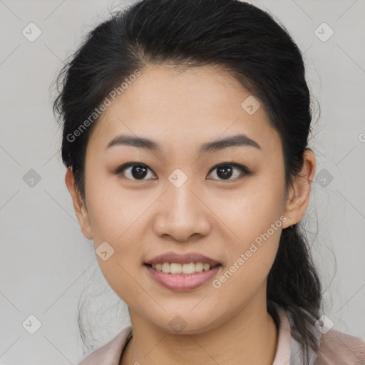
[[[81,198],[81,193],[76,187],[75,177],[71,168],[68,168],[66,171],[65,183],[73,200],[73,208],[75,209],[76,217],[80,223],[81,232],[83,232],[83,235],[88,240],[93,240],[88,211],[86,210],[86,206]]]

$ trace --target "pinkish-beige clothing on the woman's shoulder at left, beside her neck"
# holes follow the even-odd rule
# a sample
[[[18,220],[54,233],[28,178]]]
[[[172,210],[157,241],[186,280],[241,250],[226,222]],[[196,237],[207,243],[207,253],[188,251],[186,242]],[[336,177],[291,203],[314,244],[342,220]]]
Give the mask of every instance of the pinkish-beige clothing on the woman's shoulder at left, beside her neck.
[[[107,344],[91,352],[78,365],[118,365],[120,355],[130,336],[132,336],[132,327],[128,326]]]

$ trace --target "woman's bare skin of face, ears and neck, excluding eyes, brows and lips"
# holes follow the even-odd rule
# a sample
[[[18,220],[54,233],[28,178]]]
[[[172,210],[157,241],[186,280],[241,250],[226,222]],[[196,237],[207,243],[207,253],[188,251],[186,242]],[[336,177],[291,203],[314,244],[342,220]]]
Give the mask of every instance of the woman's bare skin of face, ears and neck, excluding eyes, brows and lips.
[[[140,71],[91,133],[86,205],[71,170],[65,178],[83,235],[96,248],[108,242],[114,250],[106,261],[96,257],[130,312],[133,339],[120,364],[271,365],[277,327],[266,309],[267,275],[282,228],[307,209],[314,155],[304,153],[302,173],[287,192],[279,134],[263,107],[252,115],[241,107],[250,93],[234,78],[212,66]],[[238,133],[261,148],[197,153],[202,143]],[[120,134],[155,140],[162,152],[126,145],[106,150]],[[133,178],[131,168],[115,174],[128,162],[148,166],[145,180]],[[227,180],[212,170],[220,163],[254,173],[240,178],[235,168]],[[168,180],[176,168],[187,176],[181,187]],[[286,222],[218,289],[212,280],[185,292],[166,289],[143,264],[165,252],[200,252],[222,264],[217,279],[281,216]],[[169,325],[177,315],[186,324],[180,332]]]

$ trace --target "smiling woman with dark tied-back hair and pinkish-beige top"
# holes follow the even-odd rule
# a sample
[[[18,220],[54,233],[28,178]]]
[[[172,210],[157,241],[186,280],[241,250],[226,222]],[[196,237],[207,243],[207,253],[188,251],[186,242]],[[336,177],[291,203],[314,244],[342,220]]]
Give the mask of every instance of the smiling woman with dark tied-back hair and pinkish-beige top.
[[[237,0],[140,1],[60,76],[66,185],[131,322],[80,364],[365,364],[297,226],[312,113],[282,26]]]

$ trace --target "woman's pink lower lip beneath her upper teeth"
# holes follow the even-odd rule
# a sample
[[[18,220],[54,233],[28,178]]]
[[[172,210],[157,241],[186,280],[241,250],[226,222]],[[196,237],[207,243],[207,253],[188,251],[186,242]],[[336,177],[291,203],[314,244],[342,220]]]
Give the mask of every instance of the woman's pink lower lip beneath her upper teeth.
[[[163,287],[171,290],[184,291],[195,289],[202,284],[205,284],[217,274],[221,265],[207,271],[196,272],[195,274],[166,274],[165,272],[157,271],[148,265],[145,265],[145,267],[153,279],[163,285]]]

